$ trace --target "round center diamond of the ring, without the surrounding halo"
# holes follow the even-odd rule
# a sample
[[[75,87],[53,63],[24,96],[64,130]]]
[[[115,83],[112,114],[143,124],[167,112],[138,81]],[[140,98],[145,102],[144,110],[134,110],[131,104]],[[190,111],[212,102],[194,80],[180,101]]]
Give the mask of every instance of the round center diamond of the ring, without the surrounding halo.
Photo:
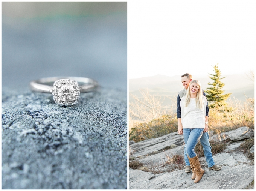
[[[58,90],[58,96],[64,102],[74,101],[76,99],[76,90],[71,84],[65,84]]]

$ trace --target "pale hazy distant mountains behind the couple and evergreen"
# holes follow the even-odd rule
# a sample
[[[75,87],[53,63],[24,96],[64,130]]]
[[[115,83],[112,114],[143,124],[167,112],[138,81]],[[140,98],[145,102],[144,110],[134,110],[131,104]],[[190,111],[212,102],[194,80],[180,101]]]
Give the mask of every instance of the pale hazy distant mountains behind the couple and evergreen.
[[[204,90],[210,87],[208,82],[212,83],[212,80],[207,75],[201,77],[193,76],[193,79],[199,80]],[[241,101],[245,101],[246,97],[243,95],[245,93],[247,97],[254,98],[254,83],[245,74],[226,75],[221,81],[225,84],[223,87],[224,93],[232,93],[231,97],[234,96]],[[152,95],[159,95],[164,98],[166,96],[177,96],[183,86],[180,75],[155,75],[130,79],[129,93],[140,97],[139,89],[148,89]],[[130,97],[129,100],[131,101],[132,98]],[[165,102],[168,102],[168,100]]]

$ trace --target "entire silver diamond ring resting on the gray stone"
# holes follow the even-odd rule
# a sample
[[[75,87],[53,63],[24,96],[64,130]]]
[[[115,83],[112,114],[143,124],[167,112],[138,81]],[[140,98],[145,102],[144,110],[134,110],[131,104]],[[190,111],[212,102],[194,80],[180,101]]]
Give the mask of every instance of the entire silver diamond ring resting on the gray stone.
[[[80,92],[90,92],[97,86],[96,81],[84,77],[50,77],[30,82],[31,90],[52,93],[55,103],[61,106],[76,104]]]

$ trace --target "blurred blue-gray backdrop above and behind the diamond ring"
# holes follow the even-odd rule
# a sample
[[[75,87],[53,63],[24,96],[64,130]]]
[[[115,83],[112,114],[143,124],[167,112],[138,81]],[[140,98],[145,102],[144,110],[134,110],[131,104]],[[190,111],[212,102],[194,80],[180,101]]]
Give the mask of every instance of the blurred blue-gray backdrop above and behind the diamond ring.
[[[127,2],[2,2],[2,87],[53,76],[127,90]]]

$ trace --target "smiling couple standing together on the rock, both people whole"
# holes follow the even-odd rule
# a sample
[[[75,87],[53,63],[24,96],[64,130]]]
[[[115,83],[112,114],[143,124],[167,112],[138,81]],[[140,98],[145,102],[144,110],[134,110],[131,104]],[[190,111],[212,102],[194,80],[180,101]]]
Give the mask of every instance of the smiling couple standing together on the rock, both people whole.
[[[207,132],[209,107],[206,94],[201,88],[200,82],[192,80],[191,74],[183,74],[181,82],[184,89],[179,92],[177,98],[178,134],[183,134],[185,141],[185,172],[192,171],[191,179],[197,183],[205,174],[204,169],[201,168],[198,155],[194,152],[199,140],[203,145],[208,169],[220,170],[222,167],[216,165],[212,158],[212,147]]]

